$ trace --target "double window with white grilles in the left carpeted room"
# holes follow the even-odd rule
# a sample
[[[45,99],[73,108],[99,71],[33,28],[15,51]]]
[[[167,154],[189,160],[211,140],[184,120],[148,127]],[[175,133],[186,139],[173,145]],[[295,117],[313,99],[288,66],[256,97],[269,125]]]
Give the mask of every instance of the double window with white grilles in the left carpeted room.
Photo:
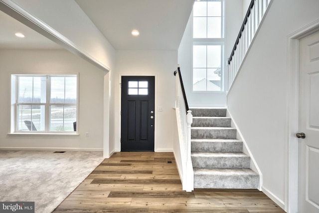
[[[11,132],[74,133],[77,75],[11,75]]]

